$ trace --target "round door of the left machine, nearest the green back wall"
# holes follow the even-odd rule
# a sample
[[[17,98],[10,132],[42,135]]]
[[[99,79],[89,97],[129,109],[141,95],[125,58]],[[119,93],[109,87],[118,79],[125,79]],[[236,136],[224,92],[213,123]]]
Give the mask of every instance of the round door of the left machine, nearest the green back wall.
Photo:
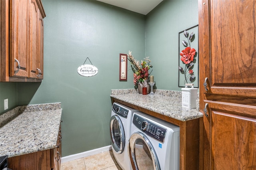
[[[122,121],[117,115],[110,118],[110,138],[112,148],[121,154],[124,151],[125,136]]]

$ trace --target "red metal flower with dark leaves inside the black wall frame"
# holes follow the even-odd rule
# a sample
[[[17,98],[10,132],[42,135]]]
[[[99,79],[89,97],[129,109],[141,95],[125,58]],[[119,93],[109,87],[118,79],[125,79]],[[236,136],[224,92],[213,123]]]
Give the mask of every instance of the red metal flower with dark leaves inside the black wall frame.
[[[179,70],[180,70],[180,73],[184,74],[185,76],[184,84],[186,84],[186,83],[192,83],[196,80],[194,71],[192,69],[194,67],[194,63],[196,62],[196,60],[194,60],[194,57],[196,57],[197,52],[194,48],[190,47],[191,42],[193,42],[195,38],[195,34],[192,32],[190,36],[188,36],[188,32],[185,30],[184,36],[188,39],[188,42],[186,42],[185,40],[182,40],[182,44],[186,48],[180,52],[180,56],[181,56],[180,60],[182,61],[182,63],[185,64],[185,70],[180,66],[179,66]],[[189,79],[189,82],[188,82],[188,79]]]

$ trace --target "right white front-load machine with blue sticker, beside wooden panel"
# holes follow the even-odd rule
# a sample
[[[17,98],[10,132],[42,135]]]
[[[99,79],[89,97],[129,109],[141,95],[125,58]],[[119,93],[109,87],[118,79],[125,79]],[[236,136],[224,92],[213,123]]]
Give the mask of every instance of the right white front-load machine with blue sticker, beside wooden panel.
[[[179,170],[180,127],[134,112],[128,152],[134,170]]]

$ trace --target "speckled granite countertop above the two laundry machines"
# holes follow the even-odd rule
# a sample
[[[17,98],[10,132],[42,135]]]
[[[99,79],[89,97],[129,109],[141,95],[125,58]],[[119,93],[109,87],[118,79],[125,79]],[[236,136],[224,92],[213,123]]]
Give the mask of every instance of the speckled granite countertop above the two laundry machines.
[[[197,111],[198,109],[182,107],[181,91],[156,90],[154,95],[142,95],[135,89],[122,89],[112,90],[110,97],[180,121],[203,117],[203,114]]]

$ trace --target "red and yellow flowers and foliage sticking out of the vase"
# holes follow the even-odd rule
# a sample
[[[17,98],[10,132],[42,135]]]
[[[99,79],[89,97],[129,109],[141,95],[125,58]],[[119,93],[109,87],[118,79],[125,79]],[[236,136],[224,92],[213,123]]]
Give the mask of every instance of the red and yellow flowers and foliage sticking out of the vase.
[[[150,73],[148,73],[148,70],[152,68],[153,66],[150,65],[151,61],[149,57],[144,58],[144,60],[141,60],[141,63],[134,59],[132,55],[132,51],[129,51],[128,54],[128,60],[131,63],[132,71],[133,71],[133,83],[135,86],[138,86],[138,83],[143,83],[145,80],[148,80],[148,76]]]

